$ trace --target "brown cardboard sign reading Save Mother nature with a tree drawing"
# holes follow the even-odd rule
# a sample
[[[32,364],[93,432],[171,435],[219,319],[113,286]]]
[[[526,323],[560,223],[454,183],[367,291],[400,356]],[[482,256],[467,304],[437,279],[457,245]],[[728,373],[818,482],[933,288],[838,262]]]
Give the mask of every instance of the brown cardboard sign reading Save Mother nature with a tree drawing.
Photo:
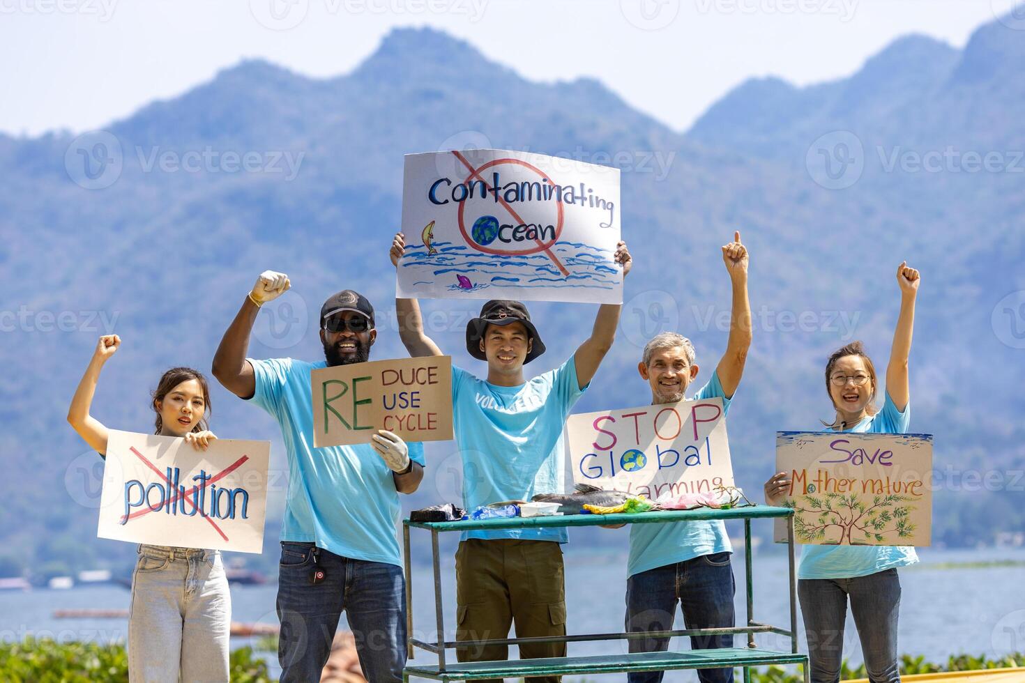
[[[928,546],[932,434],[776,432],[776,471],[790,475],[794,541]],[[785,541],[777,524],[776,540]]]

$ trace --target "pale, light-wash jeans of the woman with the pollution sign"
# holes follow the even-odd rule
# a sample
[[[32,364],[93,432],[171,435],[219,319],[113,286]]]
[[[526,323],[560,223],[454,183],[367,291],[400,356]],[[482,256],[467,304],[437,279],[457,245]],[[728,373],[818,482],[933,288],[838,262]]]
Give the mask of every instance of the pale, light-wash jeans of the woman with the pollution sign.
[[[232,596],[215,550],[138,547],[128,610],[132,683],[223,683]]]

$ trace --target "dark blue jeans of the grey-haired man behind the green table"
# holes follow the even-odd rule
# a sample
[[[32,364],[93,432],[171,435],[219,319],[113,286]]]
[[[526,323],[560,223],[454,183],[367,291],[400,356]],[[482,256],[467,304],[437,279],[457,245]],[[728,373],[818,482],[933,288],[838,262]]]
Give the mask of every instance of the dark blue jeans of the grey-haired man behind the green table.
[[[626,582],[626,631],[671,631],[676,602],[686,629],[734,626],[733,567],[730,553],[702,555],[686,562],[642,571]],[[629,641],[630,652],[664,652],[668,638]],[[733,636],[691,636],[691,648],[733,647]],[[628,674],[629,683],[661,683],[664,672]],[[732,683],[733,669],[700,669],[701,683]]]

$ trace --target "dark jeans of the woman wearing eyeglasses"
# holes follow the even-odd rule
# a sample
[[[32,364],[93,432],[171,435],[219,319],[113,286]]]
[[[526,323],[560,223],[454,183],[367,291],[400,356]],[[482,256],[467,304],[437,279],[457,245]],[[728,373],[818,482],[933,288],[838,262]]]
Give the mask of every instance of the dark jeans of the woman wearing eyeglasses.
[[[808,636],[812,683],[839,681],[848,598],[861,639],[868,680],[899,683],[897,611],[900,608],[900,579],[897,569],[855,579],[802,579],[797,582],[797,596]]]

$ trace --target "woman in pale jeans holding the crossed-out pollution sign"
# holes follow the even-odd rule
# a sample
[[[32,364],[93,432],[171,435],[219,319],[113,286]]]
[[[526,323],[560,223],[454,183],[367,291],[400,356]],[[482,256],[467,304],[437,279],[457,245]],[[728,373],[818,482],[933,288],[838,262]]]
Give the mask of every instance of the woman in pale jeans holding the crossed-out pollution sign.
[[[90,414],[104,364],[121,346],[117,335],[99,338],[68,422],[107,456],[108,429]],[[155,434],[184,438],[205,451],[210,391],[190,368],[172,368],[153,392]],[[232,598],[220,553],[215,550],[140,545],[128,611],[128,676],[131,681],[176,683],[229,680],[228,640]]]

